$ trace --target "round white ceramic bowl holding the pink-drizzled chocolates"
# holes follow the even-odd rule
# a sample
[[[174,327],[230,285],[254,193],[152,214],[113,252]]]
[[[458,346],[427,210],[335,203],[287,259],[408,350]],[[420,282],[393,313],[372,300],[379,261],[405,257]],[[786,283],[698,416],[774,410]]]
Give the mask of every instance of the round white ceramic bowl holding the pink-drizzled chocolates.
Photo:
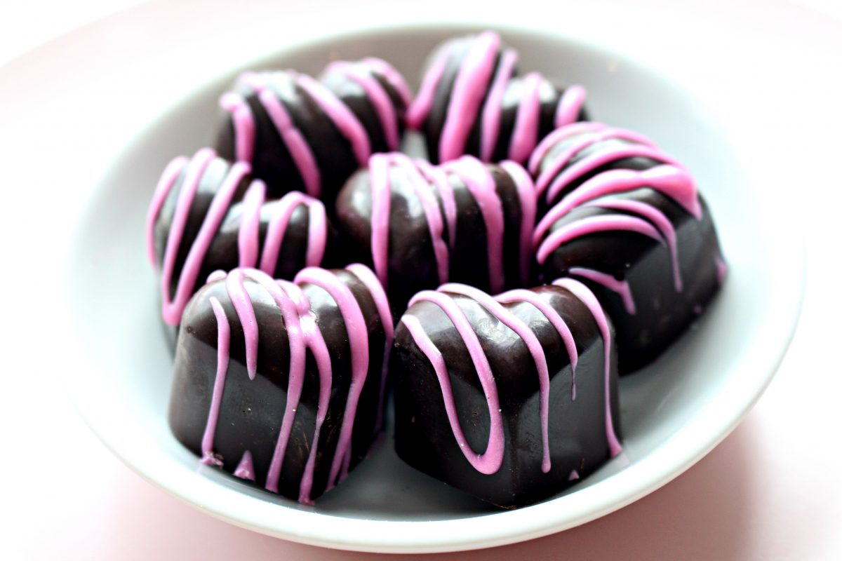
[[[366,29],[280,51],[244,67],[317,72],[330,57],[382,56],[417,81],[440,40],[476,28]],[[88,368],[72,394],[88,424],[137,473],[203,511],[299,542],[381,552],[480,548],[557,532],[646,495],[706,454],[733,429],[780,362],[802,294],[802,248],[775,227],[751,170],[694,94],[638,61],[555,34],[500,29],[520,66],[589,89],[596,119],[639,130],[695,172],[711,204],[730,273],[701,320],[657,363],[621,380],[624,453],[552,500],[495,511],[404,465],[386,442],[315,507],[253,490],[200,467],[169,432],[171,357],[143,248],[143,224],[158,174],[179,154],[213,140],[216,99],[231,69],[157,122],[109,164],[80,216],[64,318]],[[617,71],[621,68],[621,71]],[[786,252],[794,267],[774,267]]]

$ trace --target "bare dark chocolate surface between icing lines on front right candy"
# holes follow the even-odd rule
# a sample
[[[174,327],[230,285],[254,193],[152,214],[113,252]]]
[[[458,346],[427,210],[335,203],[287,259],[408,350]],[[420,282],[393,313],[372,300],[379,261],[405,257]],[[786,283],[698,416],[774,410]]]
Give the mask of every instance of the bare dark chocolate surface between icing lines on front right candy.
[[[605,343],[589,307],[567,288],[542,286],[529,292],[551,306],[568,325],[578,355],[574,378],[572,357],[546,315],[535,305],[516,298],[513,303],[504,304],[515,318],[528,325],[546,357],[549,373],[546,471],[542,466],[545,458],[542,389],[535,357],[525,340],[487,307],[465,295],[450,295],[476,334],[496,384],[503,428],[498,444],[504,450],[498,467],[486,470],[493,473],[481,473],[466,459],[466,454],[494,453],[491,415],[495,412],[488,391],[480,383],[466,340],[453,320],[439,305],[416,302],[397,326],[392,352],[398,455],[426,474],[504,507],[546,499],[575,479],[592,473],[612,455],[606,434],[616,435],[619,430],[613,343],[609,342],[609,388],[606,388]],[[408,316],[417,320],[444,358],[458,422],[470,451],[461,446],[448,420],[447,391],[440,385],[428,355],[408,330],[405,323]],[[606,325],[613,333],[610,324]],[[613,420],[610,428],[606,426],[606,399]]]

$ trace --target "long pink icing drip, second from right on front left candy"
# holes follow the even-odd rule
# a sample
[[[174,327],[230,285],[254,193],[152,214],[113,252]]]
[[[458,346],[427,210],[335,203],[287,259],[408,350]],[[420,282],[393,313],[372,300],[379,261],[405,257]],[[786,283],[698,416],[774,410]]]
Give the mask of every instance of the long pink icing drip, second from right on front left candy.
[[[351,383],[348,400],[345,404],[342,428],[339,431],[336,452],[333,455],[333,463],[328,475],[328,489],[330,489],[333,484],[337,483],[337,478],[344,479],[345,475],[348,474],[351,457],[351,431],[369,368],[368,328],[365,325],[365,317],[360,310],[360,304],[354,298],[354,294],[333,273],[328,273],[324,269],[316,267],[307,267],[296,275],[295,282],[296,284],[311,283],[327,291],[336,302],[339,313],[345,322],[346,331],[348,331],[351,349]]]

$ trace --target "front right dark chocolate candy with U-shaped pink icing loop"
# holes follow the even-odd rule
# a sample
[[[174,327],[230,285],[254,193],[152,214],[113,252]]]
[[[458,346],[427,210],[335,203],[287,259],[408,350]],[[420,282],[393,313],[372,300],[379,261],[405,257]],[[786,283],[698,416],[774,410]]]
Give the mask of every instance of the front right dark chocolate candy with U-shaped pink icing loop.
[[[495,505],[556,495],[621,451],[613,337],[572,278],[419,293],[392,352],[398,455]]]

